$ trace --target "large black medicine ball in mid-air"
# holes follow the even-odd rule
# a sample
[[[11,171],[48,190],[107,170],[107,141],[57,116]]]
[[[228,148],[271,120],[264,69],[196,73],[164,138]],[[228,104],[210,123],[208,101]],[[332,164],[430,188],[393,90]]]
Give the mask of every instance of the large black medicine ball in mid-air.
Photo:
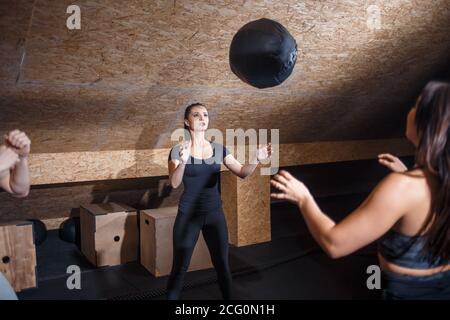
[[[273,20],[263,18],[247,23],[231,42],[231,70],[256,88],[281,84],[291,75],[296,61],[295,39]]]

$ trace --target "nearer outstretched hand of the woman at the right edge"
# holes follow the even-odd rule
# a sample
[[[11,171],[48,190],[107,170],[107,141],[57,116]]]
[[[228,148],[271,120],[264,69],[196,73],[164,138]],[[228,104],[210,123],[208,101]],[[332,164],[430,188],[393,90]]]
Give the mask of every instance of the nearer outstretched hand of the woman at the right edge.
[[[280,193],[272,193],[275,199],[288,200],[299,206],[311,197],[311,193],[303,182],[294,178],[289,172],[281,170],[270,180],[272,186],[280,190]]]

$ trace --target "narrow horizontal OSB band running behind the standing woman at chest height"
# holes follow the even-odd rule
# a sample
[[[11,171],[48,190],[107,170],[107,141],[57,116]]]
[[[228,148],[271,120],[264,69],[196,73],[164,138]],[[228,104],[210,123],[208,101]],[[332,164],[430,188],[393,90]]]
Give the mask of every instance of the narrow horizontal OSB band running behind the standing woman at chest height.
[[[246,160],[249,149],[246,148]],[[239,159],[235,150],[230,151]],[[31,183],[165,176],[169,152],[170,149],[152,149],[31,154]],[[277,166],[373,159],[384,152],[397,156],[413,155],[414,148],[406,139],[386,139],[274,144],[273,152],[270,165],[276,171]],[[224,166],[222,169],[226,170]]]

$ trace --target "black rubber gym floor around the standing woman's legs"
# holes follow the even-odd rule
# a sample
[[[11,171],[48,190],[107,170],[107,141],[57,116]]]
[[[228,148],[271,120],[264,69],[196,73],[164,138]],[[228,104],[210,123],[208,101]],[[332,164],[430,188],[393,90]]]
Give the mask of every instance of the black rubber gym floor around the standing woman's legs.
[[[345,217],[364,194],[319,199],[321,208],[336,220]],[[311,238],[297,208],[272,204],[272,241],[231,247],[236,299],[379,299],[368,290],[369,265],[377,264],[375,246],[338,260],[328,258]],[[167,277],[155,278],[138,262],[95,268],[70,243],[50,231],[37,248],[38,288],[19,299],[165,299]],[[67,267],[78,265],[81,289],[69,290]],[[220,299],[213,269],[190,272],[183,299]]]

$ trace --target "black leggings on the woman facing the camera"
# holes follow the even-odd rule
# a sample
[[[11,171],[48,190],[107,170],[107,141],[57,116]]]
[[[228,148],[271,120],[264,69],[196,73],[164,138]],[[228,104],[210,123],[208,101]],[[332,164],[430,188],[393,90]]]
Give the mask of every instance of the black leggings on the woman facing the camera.
[[[228,230],[222,209],[205,215],[178,211],[173,227],[172,271],[167,285],[167,299],[179,299],[183,278],[189,268],[200,230],[208,246],[224,299],[231,299],[231,271],[228,264]]]

